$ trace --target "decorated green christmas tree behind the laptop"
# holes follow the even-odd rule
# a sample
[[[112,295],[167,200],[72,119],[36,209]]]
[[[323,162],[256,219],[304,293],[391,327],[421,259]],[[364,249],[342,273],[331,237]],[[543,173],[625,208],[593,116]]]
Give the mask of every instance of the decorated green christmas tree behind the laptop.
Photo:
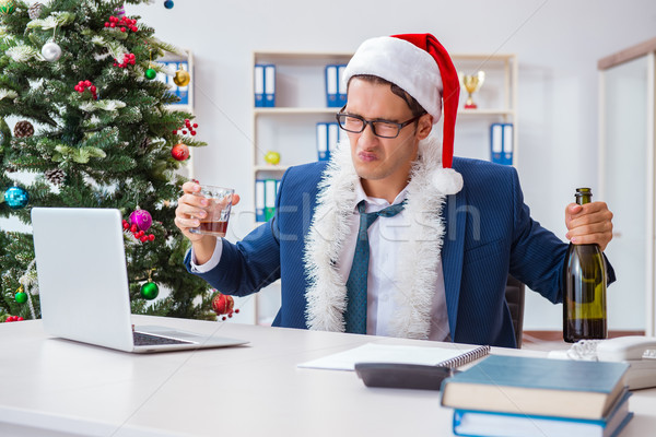
[[[0,0],[0,216],[30,224],[33,206],[118,209],[132,311],[215,319],[211,290],[183,267],[187,244],[173,222],[176,169],[186,146],[203,143],[153,80],[172,74],[155,60],[176,48],[126,16],[124,3],[143,2]],[[0,321],[39,317],[33,261],[31,234],[0,232]],[[160,287],[169,295],[152,300]]]

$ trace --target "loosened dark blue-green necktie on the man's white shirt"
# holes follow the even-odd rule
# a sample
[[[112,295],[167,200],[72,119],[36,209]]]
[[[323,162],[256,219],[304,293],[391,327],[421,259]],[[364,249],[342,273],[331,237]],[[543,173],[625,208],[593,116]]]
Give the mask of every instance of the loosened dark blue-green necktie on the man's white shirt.
[[[387,206],[378,212],[366,213],[364,200],[358,203],[360,229],[353,255],[353,264],[347,281],[347,332],[366,333],[366,281],[368,275],[368,227],[378,218],[394,217],[403,211],[406,201]]]

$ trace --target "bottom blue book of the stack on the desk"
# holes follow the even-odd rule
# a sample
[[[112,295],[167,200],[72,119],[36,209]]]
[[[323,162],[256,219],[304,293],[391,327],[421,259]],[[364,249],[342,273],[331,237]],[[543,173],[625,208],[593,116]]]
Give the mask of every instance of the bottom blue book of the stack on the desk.
[[[613,437],[633,417],[629,412],[629,397],[631,393],[624,389],[610,413],[600,420],[456,410],[453,429],[457,436],[470,437]]]

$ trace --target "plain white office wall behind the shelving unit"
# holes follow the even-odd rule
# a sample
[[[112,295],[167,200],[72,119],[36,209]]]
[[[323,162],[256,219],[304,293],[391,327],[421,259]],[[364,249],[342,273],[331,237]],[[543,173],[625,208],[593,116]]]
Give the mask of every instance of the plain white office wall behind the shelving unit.
[[[454,52],[517,54],[525,200],[563,239],[574,188],[597,186],[596,62],[656,33],[654,0],[174,1],[172,10],[163,0],[127,10],[194,50],[198,137],[209,143],[192,151],[195,174],[234,186],[243,208],[253,204],[254,50],[353,51],[371,36],[431,32]],[[232,238],[244,232],[234,226]],[[630,312],[611,310],[611,328],[640,328]],[[560,329],[561,317],[560,306],[528,296],[525,329]]]

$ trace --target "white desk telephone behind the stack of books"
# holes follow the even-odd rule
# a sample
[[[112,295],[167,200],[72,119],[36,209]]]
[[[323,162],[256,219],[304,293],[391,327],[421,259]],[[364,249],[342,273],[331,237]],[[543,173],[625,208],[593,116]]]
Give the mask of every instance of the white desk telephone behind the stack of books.
[[[567,357],[625,362],[631,366],[626,371],[626,385],[630,390],[656,387],[656,338],[654,336],[629,335],[609,340],[582,340],[572,345],[567,351]]]

